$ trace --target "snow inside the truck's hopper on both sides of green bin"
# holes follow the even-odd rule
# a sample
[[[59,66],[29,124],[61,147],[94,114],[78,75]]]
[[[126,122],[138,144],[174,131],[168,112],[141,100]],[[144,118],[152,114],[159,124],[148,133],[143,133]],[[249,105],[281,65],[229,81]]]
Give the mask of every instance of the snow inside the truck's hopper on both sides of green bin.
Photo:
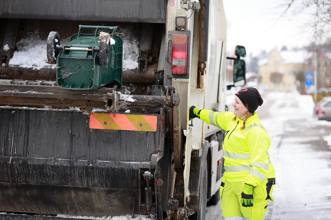
[[[56,64],[47,63],[47,39],[42,40],[39,36],[38,23],[27,27],[28,33],[20,41],[16,42],[15,46],[18,51],[15,51],[13,57],[9,61],[9,65],[15,65],[22,68],[56,68]],[[139,38],[133,29],[133,26],[118,27],[118,32],[123,33],[120,35],[123,39],[123,69],[136,69],[138,68],[138,56],[139,56]],[[59,30],[61,37],[61,31]],[[115,41],[110,39],[112,44]],[[114,42],[113,42],[113,41]],[[60,44],[64,45],[70,41],[70,37],[61,39]],[[4,46],[3,50],[8,50],[8,45]]]

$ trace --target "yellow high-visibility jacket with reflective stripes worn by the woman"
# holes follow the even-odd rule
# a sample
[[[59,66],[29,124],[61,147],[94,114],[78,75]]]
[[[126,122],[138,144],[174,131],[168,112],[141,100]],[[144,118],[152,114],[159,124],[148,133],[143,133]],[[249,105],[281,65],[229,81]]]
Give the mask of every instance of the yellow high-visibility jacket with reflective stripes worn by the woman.
[[[225,130],[223,141],[224,177],[229,182],[259,186],[265,178],[274,178],[275,170],[270,162],[268,149],[270,138],[256,112],[245,122],[233,112],[213,112],[202,109],[200,119],[207,124]]]

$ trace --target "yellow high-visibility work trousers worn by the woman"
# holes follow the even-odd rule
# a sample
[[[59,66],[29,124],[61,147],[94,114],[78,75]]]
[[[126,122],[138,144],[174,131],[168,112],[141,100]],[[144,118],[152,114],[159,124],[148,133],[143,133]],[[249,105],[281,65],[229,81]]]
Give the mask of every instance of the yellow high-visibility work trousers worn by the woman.
[[[229,182],[223,176],[222,186],[220,187],[221,208],[223,220],[261,220],[264,219],[265,211],[269,200],[272,199],[274,185],[267,186],[268,180],[265,179],[260,186],[253,190],[253,206],[244,207],[241,204],[241,193],[245,182]],[[269,197],[267,195],[269,187]],[[271,188],[271,189],[270,189]],[[268,199],[267,199],[268,198]]]

